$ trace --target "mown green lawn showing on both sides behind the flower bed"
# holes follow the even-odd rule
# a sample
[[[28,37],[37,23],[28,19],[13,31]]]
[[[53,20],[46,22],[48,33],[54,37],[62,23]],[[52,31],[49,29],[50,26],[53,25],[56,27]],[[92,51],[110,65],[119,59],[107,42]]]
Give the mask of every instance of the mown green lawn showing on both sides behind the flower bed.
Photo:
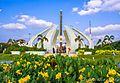
[[[112,58],[114,57],[116,62],[120,62],[120,55],[112,56],[112,55],[79,55],[81,58],[87,59],[103,59],[103,58]],[[12,54],[0,54],[0,61],[14,61],[19,58],[20,55],[12,55]]]

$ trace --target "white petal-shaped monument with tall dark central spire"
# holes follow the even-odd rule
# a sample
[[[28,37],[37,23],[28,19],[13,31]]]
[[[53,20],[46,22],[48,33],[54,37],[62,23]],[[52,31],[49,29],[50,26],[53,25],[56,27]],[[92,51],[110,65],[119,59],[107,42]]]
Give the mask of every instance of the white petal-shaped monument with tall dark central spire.
[[[33,42],[37,39],[38,35],[41,34],[48,39],[48,41],[43,42],[44,48],[48,53],[53,53],[53,49],[57,53],[68,53],[68,50],[70,49],[70,53],[74,53],[79,44],[79,42],[75,42],[75,38],[79,35],[81,38],[83,38],[83,41],[80,41],[81,48],[85,48],[84,40],[87,41],[89,48],[94,48],[94,44],[91,38],[82,33],[80,30],[74,28],[73,26],[62,26],[62,10],[60,10],[60,29],[58,30],[57,27],[58,25],[52,25],[46,30],[36,34],[30,39],[27,46],[34,46]],[[62,27],[64,27],[65,30],[62,30]],[[62,32],[64,33],[64,36]],[[37,42],[37,48],[41,48],[40,41]]]

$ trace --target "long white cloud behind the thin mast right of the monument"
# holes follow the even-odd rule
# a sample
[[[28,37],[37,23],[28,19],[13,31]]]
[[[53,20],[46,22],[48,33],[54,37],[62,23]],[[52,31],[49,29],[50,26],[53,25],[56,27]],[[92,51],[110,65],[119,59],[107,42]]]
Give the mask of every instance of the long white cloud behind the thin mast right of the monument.
[[[110,24],[106,26],[98,26],[91,28],[92,34],[105,34],[114,33],[120,31],[120,24]],[[85,29],[86,33],[89,33],[89,28]]]

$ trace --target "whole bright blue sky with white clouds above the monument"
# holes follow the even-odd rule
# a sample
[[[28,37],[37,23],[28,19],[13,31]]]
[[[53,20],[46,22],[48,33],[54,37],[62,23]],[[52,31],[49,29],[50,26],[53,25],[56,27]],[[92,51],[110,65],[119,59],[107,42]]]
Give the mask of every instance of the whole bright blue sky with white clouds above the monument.
[[[92,39],[115,35],[120,40],[119,0],[0,0],[0,42],[9,38],[26,39],[59,24],[59,11],[63,10],[63,24],[72,25]]]

